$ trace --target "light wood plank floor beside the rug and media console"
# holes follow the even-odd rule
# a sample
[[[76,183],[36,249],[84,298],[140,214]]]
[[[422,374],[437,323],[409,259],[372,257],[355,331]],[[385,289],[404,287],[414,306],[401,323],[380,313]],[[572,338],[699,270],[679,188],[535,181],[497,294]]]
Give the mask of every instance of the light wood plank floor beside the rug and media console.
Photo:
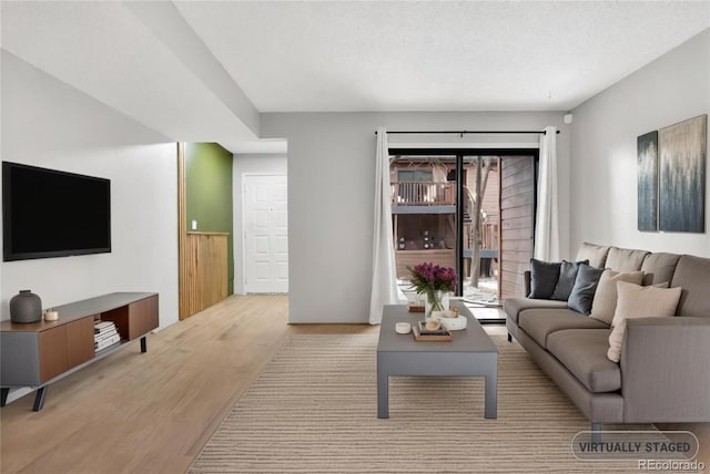
[[[0,472],[182,473],[292,333],[376,332],[288,326],[284,296],[235,296],[0,409]],[[501,326],[490,332],[505,333]],[[710,423],[686,425],[710,445]],[[703,454],[706,465],[707,452]]]

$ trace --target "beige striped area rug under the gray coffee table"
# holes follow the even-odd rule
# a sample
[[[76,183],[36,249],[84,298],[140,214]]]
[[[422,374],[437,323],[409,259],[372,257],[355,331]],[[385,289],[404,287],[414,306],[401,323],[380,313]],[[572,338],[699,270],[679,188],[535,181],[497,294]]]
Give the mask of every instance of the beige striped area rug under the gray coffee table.
[[[483,379],[390,378],[377,419],[376,334],[297,334],[264,368],[191,473],[638,472],[581,462],[589,423],[517,342],[499,348],[498,419]],[[606,426],[605,426],[606,427]]]

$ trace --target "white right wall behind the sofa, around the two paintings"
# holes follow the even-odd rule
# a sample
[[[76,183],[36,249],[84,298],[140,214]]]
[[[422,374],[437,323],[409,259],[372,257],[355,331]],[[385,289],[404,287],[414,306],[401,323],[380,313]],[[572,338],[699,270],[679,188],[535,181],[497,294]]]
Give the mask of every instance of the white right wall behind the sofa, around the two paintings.
[[[710,257],[710,234],[707,231],[637,230],[637,137],[708,113],[710,30],[574,111],[572,250],[587,240]],[[707,171],[706,176],[706,229],[710,230],[710,173]]]

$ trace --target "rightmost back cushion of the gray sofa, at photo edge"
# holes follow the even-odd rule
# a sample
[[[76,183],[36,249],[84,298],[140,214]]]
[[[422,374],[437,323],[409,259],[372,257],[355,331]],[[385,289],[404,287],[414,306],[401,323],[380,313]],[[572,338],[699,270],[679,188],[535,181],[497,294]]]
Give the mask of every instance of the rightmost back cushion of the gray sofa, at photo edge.
[[[671,287],[682,287],[676,315],[710,317],[710,258],[683,255],[678,260]]]

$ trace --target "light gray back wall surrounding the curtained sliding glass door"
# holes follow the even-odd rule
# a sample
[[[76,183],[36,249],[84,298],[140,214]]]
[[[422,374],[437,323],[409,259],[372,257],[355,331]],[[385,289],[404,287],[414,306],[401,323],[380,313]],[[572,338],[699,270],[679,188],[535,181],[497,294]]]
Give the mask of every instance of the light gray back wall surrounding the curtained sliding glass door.
[[[367,322],[375,130],[542,130],[556,125],[560,195],[567,196],[564,113],[266,113],[263,137],[288,141],[291,322]],[[535,138],[532,138],[535,140]],[[567,200],[560,199],[567,251]]]

